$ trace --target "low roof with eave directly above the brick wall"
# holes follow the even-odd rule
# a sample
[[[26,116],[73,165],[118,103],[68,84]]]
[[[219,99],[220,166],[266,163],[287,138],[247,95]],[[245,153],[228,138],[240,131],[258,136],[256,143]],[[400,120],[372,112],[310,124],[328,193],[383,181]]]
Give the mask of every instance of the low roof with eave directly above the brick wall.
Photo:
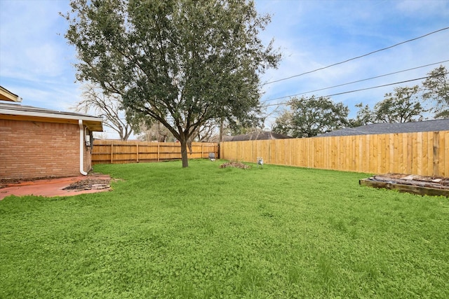
[[[55,111],[20,104],[0,103],[0,118],[12,120],[36,120],[48,123],[73,123],[83,121],[89,130],[102,132],[102,118],[86,113]]]

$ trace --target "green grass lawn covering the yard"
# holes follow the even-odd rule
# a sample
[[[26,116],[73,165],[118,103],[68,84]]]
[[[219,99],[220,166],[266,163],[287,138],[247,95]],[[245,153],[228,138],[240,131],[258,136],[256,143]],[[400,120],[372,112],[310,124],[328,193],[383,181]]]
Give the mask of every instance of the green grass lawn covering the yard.
[[[449,199],[366,174],[96,165],[113,191],[0,202],[0,298],[449,298]]]

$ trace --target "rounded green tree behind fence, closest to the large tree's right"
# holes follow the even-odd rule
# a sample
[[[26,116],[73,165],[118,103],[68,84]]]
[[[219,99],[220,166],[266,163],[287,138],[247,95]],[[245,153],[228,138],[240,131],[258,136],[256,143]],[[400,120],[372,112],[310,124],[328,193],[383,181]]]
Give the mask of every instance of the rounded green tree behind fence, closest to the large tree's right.
[[[274,124],[274,132],[292,137],[314,137],[349,125],[349,109],[334,103],[328,97],[293,97],[290,111],[281,115]]]

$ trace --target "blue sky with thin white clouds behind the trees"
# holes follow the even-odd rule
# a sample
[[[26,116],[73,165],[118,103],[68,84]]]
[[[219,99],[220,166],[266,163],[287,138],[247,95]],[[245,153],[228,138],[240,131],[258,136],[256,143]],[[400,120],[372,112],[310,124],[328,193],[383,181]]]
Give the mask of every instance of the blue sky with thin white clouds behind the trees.
[[[69,10],[66,0],[0,0],[0,85],[22,97],[22,104],[69,110],[81,99],[81,83],[75,83],[74,48],[67,45],[67,23],[58,12]],[[257,0],[257,11],[272,15],[262,32],[262,41],[274,39],[283,55],[278,69],[267,71],[262,81],[270,82],[326,67],[336,62],[393,46],[409,39],[449,27],[449,1],[295,1]],[[358,60],[263,86],[261,101],[389,74],[425,64],[449,60],[449,29],[404,43]],[[449,69],[449,62],[443,65]],[[369,88],[426,76],[438,64],[393,76],[314,92],[338,92]],[[331,97],[349,106],[373,106],[397,86]],[[308,94],[311,95],[311,94]],[[271,113],[278,106],[269,106]],[[280,105],[276,111],[285,106]],[[275,116],[275,113],[272,114]],[[270,127],[273,117],[265,126]]]

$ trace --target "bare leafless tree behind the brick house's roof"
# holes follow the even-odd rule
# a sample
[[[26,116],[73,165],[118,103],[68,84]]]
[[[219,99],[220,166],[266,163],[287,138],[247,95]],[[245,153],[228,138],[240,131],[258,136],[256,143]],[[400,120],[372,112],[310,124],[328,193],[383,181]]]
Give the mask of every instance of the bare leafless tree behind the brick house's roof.
[[[105,95],[102,90],[93,84],[83,86],[83,99],[76,104],[74,109],[88,113],[93,111],[95,115],[103,118],[103,125],[119,134],[120,140],[126,141],[133,133],[134,124],[128,123],[130,117],[121,109],[119,95]],[[131,120],[130,120],[131,122]]]

